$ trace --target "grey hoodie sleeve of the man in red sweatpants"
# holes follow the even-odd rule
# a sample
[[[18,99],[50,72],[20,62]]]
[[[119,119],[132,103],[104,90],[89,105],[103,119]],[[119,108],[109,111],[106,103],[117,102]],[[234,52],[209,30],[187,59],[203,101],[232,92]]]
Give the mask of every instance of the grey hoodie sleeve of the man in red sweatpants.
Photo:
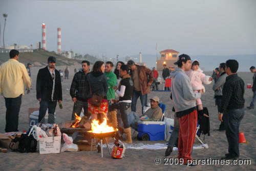
[[[190,100],[196,100],[201,98],[200,92],[193,91],[188,77],[184,77],[184,79],[181,79],[181,85],[182,85],[182,91],[183,91],[185,100],[190,101]]]

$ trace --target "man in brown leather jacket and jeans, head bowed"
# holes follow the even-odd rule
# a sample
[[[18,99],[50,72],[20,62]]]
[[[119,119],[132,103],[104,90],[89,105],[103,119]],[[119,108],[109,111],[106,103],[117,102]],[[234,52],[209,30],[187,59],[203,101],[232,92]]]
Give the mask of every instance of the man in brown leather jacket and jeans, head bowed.
[[[140,97],[143,114],[143,107],[147,105],[147,94],[150,93],[150,86],[154,82],[154,75],[151,69],[136,65],[132,60],[128,61],[127,65],[132,70],[132,80],[134,83],[131,109],[133,112],[136,112],[137,100]]]

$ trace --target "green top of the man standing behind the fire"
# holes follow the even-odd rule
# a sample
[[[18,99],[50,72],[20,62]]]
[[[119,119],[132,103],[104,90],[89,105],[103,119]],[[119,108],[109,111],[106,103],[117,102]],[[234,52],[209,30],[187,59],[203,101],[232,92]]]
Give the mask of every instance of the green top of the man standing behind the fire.
[[[106,97],[108,101],[111,99],[115,99],[115,90],[114,86],[116,86],[116,75],[111,71],[111,72],[104,72],[106,79],[108,80],[108,92],[106,93]]]

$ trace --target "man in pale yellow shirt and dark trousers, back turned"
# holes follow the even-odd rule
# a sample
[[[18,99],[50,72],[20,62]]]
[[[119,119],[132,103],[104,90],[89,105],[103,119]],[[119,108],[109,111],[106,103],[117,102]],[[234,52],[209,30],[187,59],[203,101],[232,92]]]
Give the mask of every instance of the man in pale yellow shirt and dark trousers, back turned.
[[[24,95],[24,84],[27,94],[30,92],[30,78],[23,63],[18,62],[19,52],[10,51],[10,58],[0,66],[0,93],[5,97],[6,126],[5,132],[18,131],[18,114]]]

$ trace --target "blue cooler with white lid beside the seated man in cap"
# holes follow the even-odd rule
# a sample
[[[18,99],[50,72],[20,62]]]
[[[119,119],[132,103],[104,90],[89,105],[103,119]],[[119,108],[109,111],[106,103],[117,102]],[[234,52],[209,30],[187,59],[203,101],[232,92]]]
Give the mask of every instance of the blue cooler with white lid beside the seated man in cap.
[[[138,139],[143,141],[164,140],[164,121],[138,121]]]

